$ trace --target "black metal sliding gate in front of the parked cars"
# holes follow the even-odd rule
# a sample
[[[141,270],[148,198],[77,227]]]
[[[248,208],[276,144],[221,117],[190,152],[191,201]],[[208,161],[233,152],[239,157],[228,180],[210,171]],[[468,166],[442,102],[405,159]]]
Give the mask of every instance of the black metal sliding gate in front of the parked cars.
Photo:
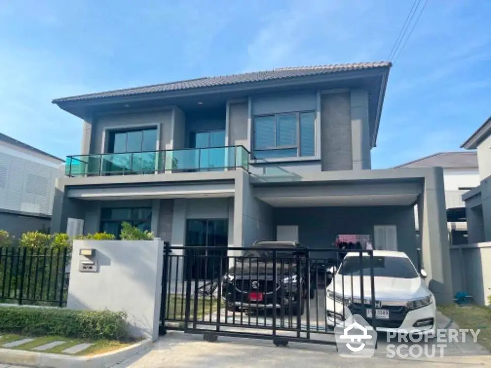
[[[182,330],[207,341],[221,335],[269,339],[277,346],[336,344],[333,326],[348,312],[377,326],[372,250],[350,251],[354,266],[348,269],[346,253],[333,248],[222,248],[191,253],[165,244],[161,335]],[[191,269],[209,264],[219,265],[218,277],[196,277],[209,273]]]

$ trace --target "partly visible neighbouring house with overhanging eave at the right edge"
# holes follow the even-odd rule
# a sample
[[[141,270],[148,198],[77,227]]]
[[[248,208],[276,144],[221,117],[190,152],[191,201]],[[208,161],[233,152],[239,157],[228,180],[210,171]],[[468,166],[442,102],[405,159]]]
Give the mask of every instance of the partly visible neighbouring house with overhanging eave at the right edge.
[[[491,241],[491,117],[462,146],[477,150],[480,185],[464,195],[467,212],[468,242]]]

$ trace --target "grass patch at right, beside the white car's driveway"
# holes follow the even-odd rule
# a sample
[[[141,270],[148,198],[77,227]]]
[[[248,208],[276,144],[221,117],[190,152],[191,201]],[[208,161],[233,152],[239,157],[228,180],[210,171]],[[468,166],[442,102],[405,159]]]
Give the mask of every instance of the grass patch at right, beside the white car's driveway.
[[[458,305],[439,306],[441,313],[455,321],[461,329],[480,329],[478,342],[491,351],[491,308],[476,305],[459,307]]]

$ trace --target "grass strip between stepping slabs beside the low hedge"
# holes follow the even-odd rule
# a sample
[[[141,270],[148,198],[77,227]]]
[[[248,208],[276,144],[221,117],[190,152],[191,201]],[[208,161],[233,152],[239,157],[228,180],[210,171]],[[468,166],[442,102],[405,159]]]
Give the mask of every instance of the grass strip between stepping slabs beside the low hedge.
[[[21,340],[25,338],[35,338],[34,336],[23,336],[23,335],[17,335],[17,334],[9,334],[9,333],[2,333],[0,331],[0,348],[3,348],[3,345],[16,341],[16,340]],[[133,342],[120,342],[120,341],[115,341],[115,340],[97,340],[97,341],[88,341],[88,340],[83,340],[83,339],[72,339],[68,337],[62,337],[62,336],[41,336],[41,337],[36,337],[34,341],[22,344],[18,347],[15,348],[10,348],[13,350],[25,350],[25,351],[35,351],[32,350],[35,347],[47,344],[52,341],[65,341],[64,344],[61,344],[53,349],[49,350],[44,350],[43,353],[55,353],[55,354],[63,354],[63,350],[68,349],[70,347],[73,347],[79,343],[82,342],[90,342],[94,343],[93,346],[81,351],[80,353],[77,354],[70,354],[70,355],[95,355],[95,354],[100,354],[100,353],[105,353],[111,350],[118,350],[121,348],[124,348],[126,346],[129,346]]]

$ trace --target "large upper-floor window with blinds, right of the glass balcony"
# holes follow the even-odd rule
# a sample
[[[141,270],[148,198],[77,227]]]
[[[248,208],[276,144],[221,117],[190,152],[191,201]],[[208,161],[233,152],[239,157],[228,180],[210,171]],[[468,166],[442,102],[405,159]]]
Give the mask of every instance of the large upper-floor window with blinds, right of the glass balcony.
[[[314,156],[315,112],[291,112],[254,118],[254,156]]]

